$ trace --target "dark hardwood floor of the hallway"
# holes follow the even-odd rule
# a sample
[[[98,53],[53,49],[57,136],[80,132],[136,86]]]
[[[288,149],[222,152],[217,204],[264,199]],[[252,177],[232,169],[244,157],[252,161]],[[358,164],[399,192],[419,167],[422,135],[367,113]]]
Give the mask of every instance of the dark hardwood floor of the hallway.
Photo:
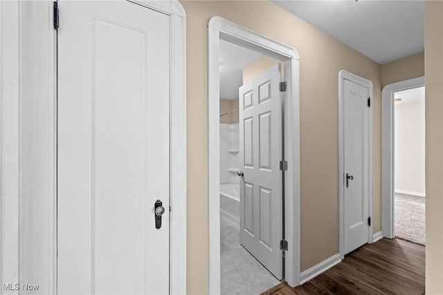
[[[281,283],[262,295],[289,294],[424,294],[425,247],[383,238],[350,254],[296,288]]]

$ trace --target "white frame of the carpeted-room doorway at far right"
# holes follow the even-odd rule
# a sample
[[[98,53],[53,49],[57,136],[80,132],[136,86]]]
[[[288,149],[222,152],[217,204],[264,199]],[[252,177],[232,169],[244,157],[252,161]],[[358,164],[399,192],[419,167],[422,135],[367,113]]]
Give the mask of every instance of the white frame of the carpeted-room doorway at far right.
[[[381,231],[385,238],[395,238],[395,112],[397,91],[425,86],[424,76],[388,84],[381,91]]]

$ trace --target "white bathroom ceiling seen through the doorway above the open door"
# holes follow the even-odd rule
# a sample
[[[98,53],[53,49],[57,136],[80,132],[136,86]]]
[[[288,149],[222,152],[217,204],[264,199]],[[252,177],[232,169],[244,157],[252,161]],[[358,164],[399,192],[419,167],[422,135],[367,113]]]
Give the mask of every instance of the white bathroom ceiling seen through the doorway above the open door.
[[[236,99],[243,85],[243,68],[262,57],[260,53],[220,40],[220,98]]]

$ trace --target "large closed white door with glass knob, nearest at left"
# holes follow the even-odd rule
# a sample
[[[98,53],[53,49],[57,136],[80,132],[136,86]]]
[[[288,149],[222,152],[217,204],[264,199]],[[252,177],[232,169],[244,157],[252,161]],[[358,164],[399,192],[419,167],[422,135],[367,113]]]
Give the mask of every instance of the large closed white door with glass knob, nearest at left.
[[[58,293],[168,294],[169,17],[59,3]]]

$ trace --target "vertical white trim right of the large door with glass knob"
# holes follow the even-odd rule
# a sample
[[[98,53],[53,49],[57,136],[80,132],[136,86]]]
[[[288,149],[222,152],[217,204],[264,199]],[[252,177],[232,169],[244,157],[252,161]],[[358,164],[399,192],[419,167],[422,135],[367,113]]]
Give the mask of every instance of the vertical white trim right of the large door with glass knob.
[[[154,1],[154,3],[158,3]],[[186,13],[173,0],[171,16],[170,293],[186,294]]]

